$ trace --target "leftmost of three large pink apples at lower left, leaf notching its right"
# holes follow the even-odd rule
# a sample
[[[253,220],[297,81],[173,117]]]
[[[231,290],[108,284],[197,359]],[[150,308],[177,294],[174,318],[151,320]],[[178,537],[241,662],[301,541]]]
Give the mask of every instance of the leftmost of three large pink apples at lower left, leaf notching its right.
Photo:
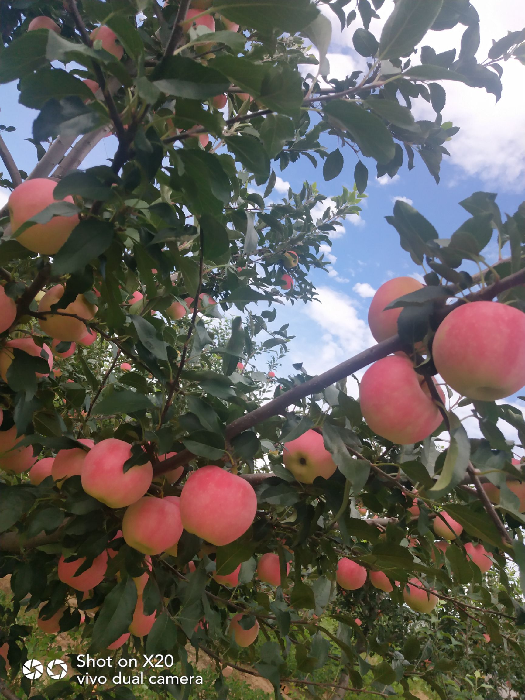
[[[146,462],[124,472],[124,463],[131,456],[128,442],[115,437],[101,440],[85,457],[80,474],[84,491],[110,508],[122,508],[139,500],[151,485],[153,467]]]

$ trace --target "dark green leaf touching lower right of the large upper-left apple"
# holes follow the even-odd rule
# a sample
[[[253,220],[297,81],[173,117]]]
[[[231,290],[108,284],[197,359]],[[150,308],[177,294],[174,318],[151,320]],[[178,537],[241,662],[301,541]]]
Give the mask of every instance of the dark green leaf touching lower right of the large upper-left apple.
[[[62,275],[83,269],[111,246],[114,237],[115,231],[109,221],[83,219],[53,257],[52,273]]]

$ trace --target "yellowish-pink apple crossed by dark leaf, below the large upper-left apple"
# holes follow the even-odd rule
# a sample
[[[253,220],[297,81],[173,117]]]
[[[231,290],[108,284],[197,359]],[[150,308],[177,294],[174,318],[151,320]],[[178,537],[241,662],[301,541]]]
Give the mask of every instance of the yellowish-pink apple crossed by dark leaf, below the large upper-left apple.
[[[57,302],[62,299],[64,291],[64,286],[62,284],[57,284],[50,288],[38,304],[38,312],[43,313],[45,311],[50,311],[52,305],[57,304]],[[78,294],[73,302],[67,304],[65,309],[59,309],[59,311],[64,314],[75,314],[75,316],[79,316],[79,318],[59,316],[59,314],[47,314],[45,318],[40,319],[40,327],[46,335],[56,340],[73,342],[80,340],[80,338],[86,335],[87,330],[84,321],[91,321],[94,314],[97,313],[97,307],[87,302],[83,294]]]

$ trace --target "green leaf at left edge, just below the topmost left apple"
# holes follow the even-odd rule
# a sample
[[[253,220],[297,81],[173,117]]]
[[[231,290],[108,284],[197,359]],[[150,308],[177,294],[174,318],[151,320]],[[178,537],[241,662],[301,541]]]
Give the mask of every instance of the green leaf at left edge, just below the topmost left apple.
[[[55,34],[55,32],[45,29],[24,31],[2,50],[0,85],[29,76],[33,71],[48,64],[45,58],[48,34]]]

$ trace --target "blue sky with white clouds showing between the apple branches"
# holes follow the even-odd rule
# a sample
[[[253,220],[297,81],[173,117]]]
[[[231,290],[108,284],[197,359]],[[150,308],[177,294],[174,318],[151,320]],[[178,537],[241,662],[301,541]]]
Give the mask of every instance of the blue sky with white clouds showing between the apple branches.
[[[523,0],[502,0],[497,3],[497,13],[493,0],[473,0],[473,3],[481,18],[480,58],[486,56],[493,39],[504,36],[509,29],[525,27]],[[386,0],[381,16],[386,17],[392,7],[393,0]],[[341,78],[364,66],[365,59],[353,51],[351,41],[359,25],[353,22],[341,33],[335,15],[327,16],[332,21],[330,75]],[[449,32],[430,32],[423,45],[433,45],[438,52],[458,47],[463,29],[460,25]],[[381,22],[372,20],[370,30],[379,36]],[[396,197],[412,203],[444,238],[468,218],[458,202],[477,190],[498,193],[497,201],[503,213],[516,211],[525,199],[525,96],[521,90],[524,80],[524,66],[515,60],[505,63],[503,97],[497,104],[493,95],[484,90],[456,83],[444,85],[447,106],[443,119],[452,121],[461,131],[448,144],[451,158],[444,159],[439,186],[417,158],[412,172],[405,165],[393,180],[385,177],[381,181],[374,179],[374,163],[367,162],[370,179],[362,216],[358,221],[347,221],[343,235],[333,240],[331,249],[325,250],[327,256],[332,256],[332,272],[314,273],[319,301],[279,308],[277,322],[290,323],[290,334],[296,336],[283,363],[283,373],[293,371],[292,362],[302,361],[310,373],[316,374],[370,346],[373,340],[366,317],[372,290],[393,276],[421,274],[422,270],[400,248],[397,232],[384,219],[391,214]],[[0,94],[0,122],[17,127],[16,132],[3,134],[4,138],[19,167],[29,172],[36,160],[35,150],[24,139],[31,134],[36,111],[18,104],[15,83],[3,86]],[[416,118],[434,118],[421,99],[414,104],[414,114]],[[114,145],[113,137],[102,139],[83,167],[105,162],[113,155]],[[356,159],[346,150],[344,169],[335,180],[325,183],[321,167],[314,169],[304,159],[300,165],[290,165],[281,173],[278,183],[286,189],[289,183],[299,191],[302,181],[307,179],[317,182],[325,195],[337,195],[342,186],[353,186]],[[278,198],[277,191],[274,199]],[[1,193],[0,203],[3,203]],[[496,246],[490,244],[488,251],[491,261],[495,260]]]

